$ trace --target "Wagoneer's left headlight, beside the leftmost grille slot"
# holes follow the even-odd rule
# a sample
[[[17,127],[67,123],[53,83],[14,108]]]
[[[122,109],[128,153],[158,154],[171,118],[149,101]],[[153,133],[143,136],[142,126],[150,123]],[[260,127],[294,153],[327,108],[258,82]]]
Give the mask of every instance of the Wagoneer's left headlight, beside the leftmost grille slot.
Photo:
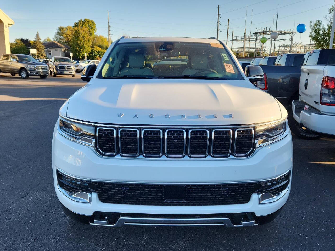
[[[89,124],[82,124],[59,118],[59,132],[64,137],[78,143],[94,146],[95,129]]]

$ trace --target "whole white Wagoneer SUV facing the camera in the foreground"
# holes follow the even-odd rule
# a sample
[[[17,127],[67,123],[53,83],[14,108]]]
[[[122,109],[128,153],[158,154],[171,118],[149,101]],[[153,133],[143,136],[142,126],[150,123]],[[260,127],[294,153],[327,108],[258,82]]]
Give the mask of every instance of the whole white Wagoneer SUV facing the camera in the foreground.
[[[162,59],[186,63],[147,67]],[[279,214],[292,175],[287,111],[221,41],[121,37],[83,74],[89,83],[60,108],[52,142],[66,215],[242,227]]]

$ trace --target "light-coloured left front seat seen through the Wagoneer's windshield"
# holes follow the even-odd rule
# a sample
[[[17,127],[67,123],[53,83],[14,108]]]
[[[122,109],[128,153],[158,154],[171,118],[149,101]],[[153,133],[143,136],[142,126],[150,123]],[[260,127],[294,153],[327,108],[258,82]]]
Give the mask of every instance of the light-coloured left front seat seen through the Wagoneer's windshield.
[[[153,75],[150,68],[145,67],[145,57],[143,54],[130,54],[128,58],[129,67],[125,67],[120,72],[120,75]]]

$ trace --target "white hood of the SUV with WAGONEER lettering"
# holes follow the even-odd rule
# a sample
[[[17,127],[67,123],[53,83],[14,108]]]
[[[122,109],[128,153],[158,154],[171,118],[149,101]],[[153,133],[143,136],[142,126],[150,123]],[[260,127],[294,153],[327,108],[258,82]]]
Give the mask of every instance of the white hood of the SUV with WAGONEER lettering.
[[[263,123],[280,119],[281,111],[248,80],[91,79],[70,97],[66,115],[95,123],[192,126]]]

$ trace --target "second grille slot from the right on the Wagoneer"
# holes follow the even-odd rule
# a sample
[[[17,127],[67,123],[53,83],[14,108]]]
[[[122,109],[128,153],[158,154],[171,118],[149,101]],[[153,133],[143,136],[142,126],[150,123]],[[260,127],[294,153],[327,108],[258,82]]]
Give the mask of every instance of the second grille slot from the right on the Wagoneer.
[[[230,155],[232,131],[216,129],[212,131],[212,156],[226,157]]]

